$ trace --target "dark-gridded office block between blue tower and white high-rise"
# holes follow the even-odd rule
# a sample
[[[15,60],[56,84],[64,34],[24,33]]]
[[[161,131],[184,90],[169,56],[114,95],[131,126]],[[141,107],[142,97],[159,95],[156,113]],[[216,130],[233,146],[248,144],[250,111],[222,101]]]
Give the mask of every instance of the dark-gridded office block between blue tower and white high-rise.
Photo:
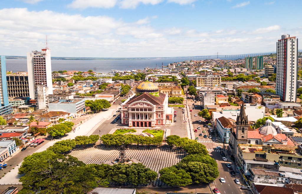
[[[29,97],[27,74],[7,74],[6,81],[8,97]]]

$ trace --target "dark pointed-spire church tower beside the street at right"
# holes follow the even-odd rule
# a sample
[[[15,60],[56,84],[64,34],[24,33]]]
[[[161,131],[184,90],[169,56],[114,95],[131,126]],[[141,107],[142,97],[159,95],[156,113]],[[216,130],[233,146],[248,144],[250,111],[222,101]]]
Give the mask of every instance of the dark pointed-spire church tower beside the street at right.
[[[249,129],[249,120],[245,114],[244,105],[240,107],[240,113],[236,121],[236,140],[237,144],[247,143],[247,132]]]

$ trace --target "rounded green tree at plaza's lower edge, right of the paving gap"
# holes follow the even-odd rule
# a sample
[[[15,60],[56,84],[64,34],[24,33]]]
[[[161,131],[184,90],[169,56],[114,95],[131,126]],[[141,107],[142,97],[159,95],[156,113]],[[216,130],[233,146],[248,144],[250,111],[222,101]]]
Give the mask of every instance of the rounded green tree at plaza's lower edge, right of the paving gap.
[[[186,186],[192,182],[190,173],[183,169],[178,170],[175,166],[163,168],[159,173],[159,180],[169,186]]]

